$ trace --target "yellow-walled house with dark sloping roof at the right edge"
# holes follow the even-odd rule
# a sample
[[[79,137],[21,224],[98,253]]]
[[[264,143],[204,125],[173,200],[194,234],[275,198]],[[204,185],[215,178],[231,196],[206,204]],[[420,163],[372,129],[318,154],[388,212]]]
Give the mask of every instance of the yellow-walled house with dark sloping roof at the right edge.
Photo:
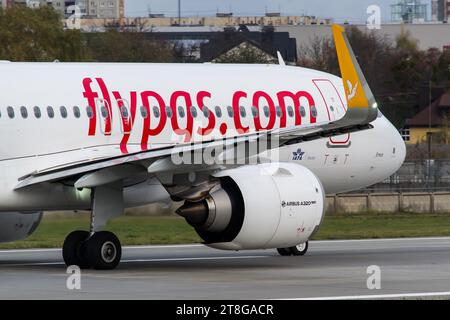
[[[413,118],[406,120],[401,133],[407,144],[420,144],[427,141],[427,134],[440,135],[448,143],[450,139],[450,91],[442,94],[428,107]]]

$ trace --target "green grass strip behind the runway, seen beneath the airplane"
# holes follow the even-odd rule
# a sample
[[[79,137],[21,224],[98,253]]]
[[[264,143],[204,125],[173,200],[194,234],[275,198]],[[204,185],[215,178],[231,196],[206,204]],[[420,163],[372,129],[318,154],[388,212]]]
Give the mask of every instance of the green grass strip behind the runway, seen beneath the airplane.
[[[46,216],[31,237],[0,245],[0,249],[61,247],[73,230],[89,226],[87,215]],[[124,245],[198,243],[194,230],[178,217],[127,216],[111,221]],[[450,236],[450,214],[355,214],[328,215],[316,240]]]

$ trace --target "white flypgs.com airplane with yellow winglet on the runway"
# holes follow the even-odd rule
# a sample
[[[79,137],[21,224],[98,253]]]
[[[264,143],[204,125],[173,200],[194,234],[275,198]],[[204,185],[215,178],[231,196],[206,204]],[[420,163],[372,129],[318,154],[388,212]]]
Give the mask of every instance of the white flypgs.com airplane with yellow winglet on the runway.
[[[124,208],[183,201],[207,246],[303,255],[325,195],[382,181],[405,145],[379,112],[344,29],[342,79],[300,67],[0,63],[0,242],[43,211],[91,210],[67,265],[113,269]]]

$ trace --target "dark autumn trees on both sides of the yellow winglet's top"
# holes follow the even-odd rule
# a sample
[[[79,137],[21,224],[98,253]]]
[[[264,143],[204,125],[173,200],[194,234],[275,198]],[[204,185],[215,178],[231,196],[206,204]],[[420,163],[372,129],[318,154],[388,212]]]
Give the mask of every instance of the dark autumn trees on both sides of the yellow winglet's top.
[[[348,27],[346,34],[381,111],[398,128],[424,107],[418,102],[419,95],[428,88],[430,79],[434,85],[449,87],[449,52],[435,48],[422,51],[408,32],[402,32],[395,41],[354,26]],[[340,76],[330,37],[313,38],[299,51],[300,66]]]

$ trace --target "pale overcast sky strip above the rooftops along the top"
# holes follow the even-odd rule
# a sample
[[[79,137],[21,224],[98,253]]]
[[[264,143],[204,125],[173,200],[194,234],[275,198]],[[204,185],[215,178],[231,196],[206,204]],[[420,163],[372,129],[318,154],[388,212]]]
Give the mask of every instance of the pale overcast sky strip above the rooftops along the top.
[[[379,5],[382,20],[390,20],[390,5],[397,0],[181,0],[182,15],[211,16],[217,10],[232,11],[235,15],[263,15],[266,8],[271,12],[281,11],[283,15],[315,15],[334,18],[337,22],[366,21],[366,9],[371,4]],[[422,0],[429,4],[431,0]],[[176,16],[178,0],[125,0],[128,16],[146,16],[153,13]],[[431,10],[428,8],[428,10]]]

